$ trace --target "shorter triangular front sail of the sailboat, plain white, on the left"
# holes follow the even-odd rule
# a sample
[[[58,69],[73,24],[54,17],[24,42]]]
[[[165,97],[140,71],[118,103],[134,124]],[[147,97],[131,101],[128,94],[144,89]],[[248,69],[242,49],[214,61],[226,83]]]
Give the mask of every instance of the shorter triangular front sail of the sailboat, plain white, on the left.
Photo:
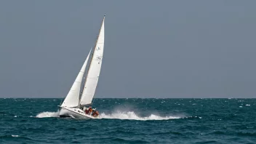
[[[89,51],[89,55],[91,53],[91,50]],[[79,92],[81,88],[81,81],[84,76],[85,68],[87,67],[89,55],[87,56],[84,65],[81,67],[81,71],[79,71],[79,74],[76,76],[76,80],[73,82],[73,85],[61,106],[76,107],[79,105]]]

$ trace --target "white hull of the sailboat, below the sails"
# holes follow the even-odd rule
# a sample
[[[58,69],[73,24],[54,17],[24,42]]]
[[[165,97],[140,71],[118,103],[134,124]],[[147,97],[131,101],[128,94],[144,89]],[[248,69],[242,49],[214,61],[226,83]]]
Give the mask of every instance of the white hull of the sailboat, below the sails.
[[[96,119],[93,116],[90,116],[84,111],[81,111],[80,108],[70,108],[70,107],[60,107],[60,117],[73,117],[79,119]]]

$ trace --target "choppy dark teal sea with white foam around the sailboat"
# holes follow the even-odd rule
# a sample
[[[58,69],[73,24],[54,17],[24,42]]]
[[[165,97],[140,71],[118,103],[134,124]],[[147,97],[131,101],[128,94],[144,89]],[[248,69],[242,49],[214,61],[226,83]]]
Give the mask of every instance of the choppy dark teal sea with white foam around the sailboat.
[[[256,99],[95,99],[98,119],[60,101],[0,99],[0,143],[256,143]]]

